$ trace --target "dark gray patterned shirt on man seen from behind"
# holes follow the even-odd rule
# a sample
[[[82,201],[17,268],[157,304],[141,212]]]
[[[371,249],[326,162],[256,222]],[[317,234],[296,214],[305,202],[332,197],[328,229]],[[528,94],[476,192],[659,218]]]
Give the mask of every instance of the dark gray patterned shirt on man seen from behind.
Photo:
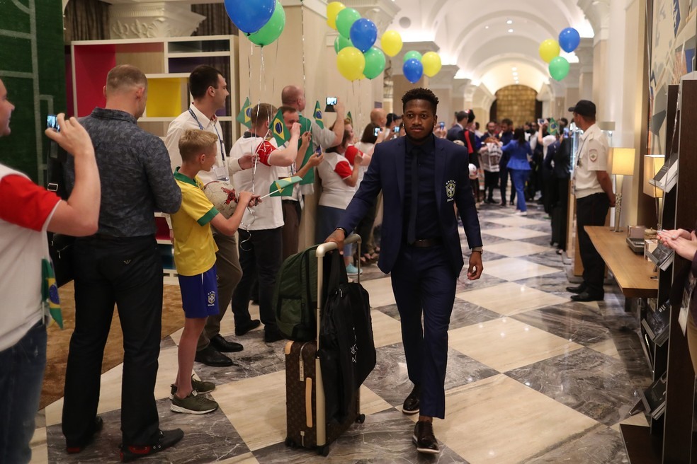
[[[169,169],[169,153],[159,137],[145,132],[128,112],[95,108],[83,117],[94,145],[101,180],[98,233],[139,237],[155,233],[154,211],[174,213],[181,190]],[[66,163],[74,185],[74,161]]]

